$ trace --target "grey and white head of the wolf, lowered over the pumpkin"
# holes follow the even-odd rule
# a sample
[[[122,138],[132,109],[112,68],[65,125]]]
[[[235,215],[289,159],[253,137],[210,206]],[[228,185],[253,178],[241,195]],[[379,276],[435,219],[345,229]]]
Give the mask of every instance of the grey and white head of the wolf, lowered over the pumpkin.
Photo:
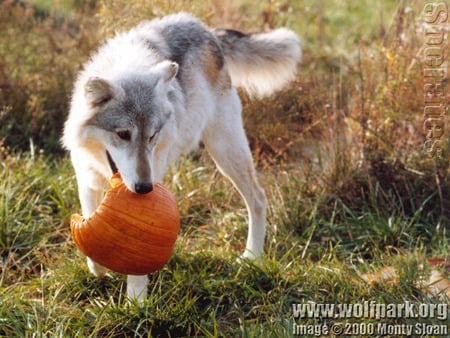
[[[153,189],[155,147],[174,111],[170,96],[177,72],[176,63],[163,61],[148,72],[116,80],[91,77],[84,86],[95,111],[89,126],[133,192]]]

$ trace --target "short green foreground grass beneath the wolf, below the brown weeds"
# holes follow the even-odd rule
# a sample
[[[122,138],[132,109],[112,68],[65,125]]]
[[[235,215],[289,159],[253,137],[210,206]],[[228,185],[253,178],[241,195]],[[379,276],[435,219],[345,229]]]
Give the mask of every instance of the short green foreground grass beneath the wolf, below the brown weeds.
[[[176,249],[150,276],[140,308],[127,302],[124,276],[90,275],[70,238],[68,217],[79,206],[68,160],[16,153],[3,160],[0,336],[288,337],[293,303],[441,302],[417,282],[427,256],[448,252],[445,233],[400,216],[355,215],[339,203],[336,213],[347,214],[325,219],[318,203],[303,205],[307,183],[289,172],[261,174],[271,205],[267,256],[237,263],[246,230],[242,202],[210,160],[188,158],[166,181],[182,211]],[[358,277],[383,265],[398,269],[398,283],[368,287]]]

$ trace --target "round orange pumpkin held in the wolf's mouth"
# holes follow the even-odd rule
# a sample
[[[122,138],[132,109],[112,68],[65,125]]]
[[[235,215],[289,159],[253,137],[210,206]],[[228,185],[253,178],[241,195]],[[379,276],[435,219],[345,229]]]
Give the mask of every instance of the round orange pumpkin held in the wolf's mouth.
[[[73,214],[72,237],[92,260],[113,271],[145,275],[161,269],[172,255],[180,228],[175,196],[162,184],[135,194],[115,174],[112,188],[88,219]]]

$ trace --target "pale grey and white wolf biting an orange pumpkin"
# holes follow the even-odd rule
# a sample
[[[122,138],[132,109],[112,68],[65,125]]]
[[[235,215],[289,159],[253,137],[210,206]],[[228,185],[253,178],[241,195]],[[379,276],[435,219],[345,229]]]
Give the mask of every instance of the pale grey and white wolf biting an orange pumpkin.
[[[174,14],[106,41],[75,82],[62,142],[70,151],[84,217],[101,203],[114,167],[145,194],[169,165],[203,142],[249,214],[243,257],[263,253],[266,196],[258,184],[235,87],[261,97],[295,77],[299,38],[280,28],[244,34]],[[98,276],[106,269],[87,258]],[[142,301],[147,276],[128,276]]]

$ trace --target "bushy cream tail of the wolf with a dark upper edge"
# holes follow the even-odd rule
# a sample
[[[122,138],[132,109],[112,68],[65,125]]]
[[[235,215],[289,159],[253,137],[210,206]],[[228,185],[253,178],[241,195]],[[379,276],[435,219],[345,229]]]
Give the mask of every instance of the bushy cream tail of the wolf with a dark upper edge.
[[[285,28],[244,34],[230,29],[214,31],[222,45],[233,86],[264,96],[295,78],[302,57],[298,36]]]

